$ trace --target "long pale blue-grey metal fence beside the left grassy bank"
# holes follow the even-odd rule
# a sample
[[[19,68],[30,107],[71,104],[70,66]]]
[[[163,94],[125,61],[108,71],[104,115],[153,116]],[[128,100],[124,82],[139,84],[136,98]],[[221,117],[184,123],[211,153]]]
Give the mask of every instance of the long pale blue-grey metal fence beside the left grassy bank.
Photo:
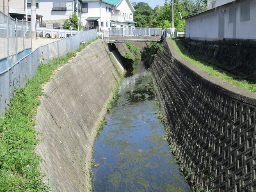
[[[9,66],[7,70],[0,72],[0,113],[5,113],[5,108],[8,108],[7,104],[15,95],[14,89],[25,87],[26,80],[34,77],[37,73],[37,67],[41,63],[48,63],[50,59],[61,57],[72,50],[76,50],[81,41],[89,42],[97,36],[96,30],[88,30],[40,46]]]

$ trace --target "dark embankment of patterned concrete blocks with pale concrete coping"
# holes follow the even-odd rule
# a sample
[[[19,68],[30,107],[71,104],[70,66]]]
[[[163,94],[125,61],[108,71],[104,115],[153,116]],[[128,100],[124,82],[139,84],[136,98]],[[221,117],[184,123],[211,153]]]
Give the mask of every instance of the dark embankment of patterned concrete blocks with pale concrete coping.
[[[171,150],[194,186],[256,191],[256,94],[179,57],[169,39],[151,63]]]

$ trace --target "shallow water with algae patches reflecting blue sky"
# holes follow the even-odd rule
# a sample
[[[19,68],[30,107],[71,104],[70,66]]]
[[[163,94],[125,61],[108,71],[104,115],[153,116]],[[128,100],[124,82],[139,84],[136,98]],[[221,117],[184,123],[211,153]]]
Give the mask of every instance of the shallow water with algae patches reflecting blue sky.
[[[94,192],[192,192],[162,137],[158,111],[149,72],[138,62],[94,142]]]

